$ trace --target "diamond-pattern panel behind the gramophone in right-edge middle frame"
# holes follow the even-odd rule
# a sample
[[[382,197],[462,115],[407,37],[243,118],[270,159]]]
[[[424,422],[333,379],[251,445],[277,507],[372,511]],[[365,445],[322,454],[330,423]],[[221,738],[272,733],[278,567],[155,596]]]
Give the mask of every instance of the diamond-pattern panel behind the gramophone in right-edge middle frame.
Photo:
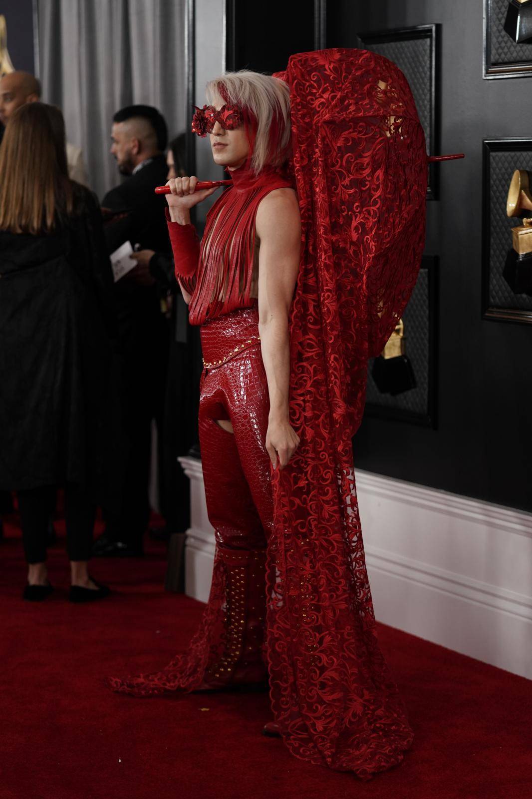
[[[511,249],[511,229],[521,225],[519,219],[506,217],[506,195],[514,169],[530,169],[532,172],[532,152],[521,150],[498,152],[492,151],[490,157],[490,240],[488,252],[490,269],[490,308],[517,308],[532,310],[532,297],[525,294],[514,294],[502,276],[506,261],[506,252]],[[484,265],[486,268],[486,265]]]

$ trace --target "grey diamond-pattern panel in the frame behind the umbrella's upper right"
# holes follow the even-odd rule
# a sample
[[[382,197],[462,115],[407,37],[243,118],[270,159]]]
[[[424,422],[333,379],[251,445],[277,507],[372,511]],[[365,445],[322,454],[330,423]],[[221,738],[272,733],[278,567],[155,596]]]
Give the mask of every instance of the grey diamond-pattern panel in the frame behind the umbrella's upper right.
[[[364,42],[366,50],[383,55],[399,66],[414,95],[419,121],[431,152],[431,39],[415,38],[397,42]]]

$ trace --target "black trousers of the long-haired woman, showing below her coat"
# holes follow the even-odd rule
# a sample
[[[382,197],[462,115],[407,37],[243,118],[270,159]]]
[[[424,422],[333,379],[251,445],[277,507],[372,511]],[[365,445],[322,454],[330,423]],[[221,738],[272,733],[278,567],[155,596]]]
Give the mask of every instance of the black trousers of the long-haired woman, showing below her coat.
[[[46,533],[56,491],[55,486],[17,491],[22,543],[28,563],[42,563],[46,560]],[[95,515],[96,506],[89,499],[85,487],[67,483],[65,522],[66,551],[69,560],[89,560]]]

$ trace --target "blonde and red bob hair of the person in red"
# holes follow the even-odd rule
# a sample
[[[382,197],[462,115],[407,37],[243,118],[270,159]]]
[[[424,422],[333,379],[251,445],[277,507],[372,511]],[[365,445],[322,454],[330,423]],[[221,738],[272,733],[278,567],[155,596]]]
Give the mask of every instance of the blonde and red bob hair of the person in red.
[[[252,144],[254,173],[265,166],[282,166],[290,157],[290,89],[284,81],[251,70],[227,72],[207,84],[211,105],[240,105]],[[254,130],[248,129],[250,114]],[[256,128],[256,129],[255,129]],[[253,135],[254,133],[254,135]]]

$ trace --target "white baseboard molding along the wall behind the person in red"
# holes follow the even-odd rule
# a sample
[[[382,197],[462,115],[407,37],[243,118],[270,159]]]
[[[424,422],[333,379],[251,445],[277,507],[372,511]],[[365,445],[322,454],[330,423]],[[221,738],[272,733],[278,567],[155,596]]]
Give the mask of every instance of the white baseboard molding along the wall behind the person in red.
[[[197,459],[186,592],[205,602],[214,531]],[[532,678],[532,514],[356,472],[367,570],[379,621]]]

